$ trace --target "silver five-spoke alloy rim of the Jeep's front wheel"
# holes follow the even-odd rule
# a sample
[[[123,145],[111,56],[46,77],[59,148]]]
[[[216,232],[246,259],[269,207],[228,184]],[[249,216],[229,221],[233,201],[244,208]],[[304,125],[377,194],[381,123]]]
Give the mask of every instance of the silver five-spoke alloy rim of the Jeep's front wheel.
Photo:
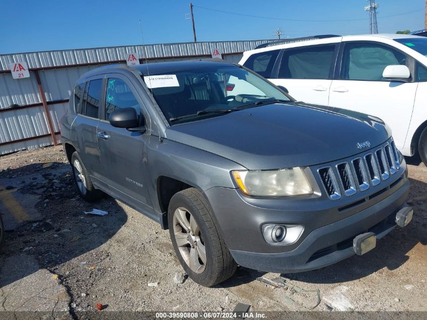
[[[179,207],[173,213],[173,233],[179,253],[188,267],[195,273],[206,268],[206,247],[200,227],[194,216]]]

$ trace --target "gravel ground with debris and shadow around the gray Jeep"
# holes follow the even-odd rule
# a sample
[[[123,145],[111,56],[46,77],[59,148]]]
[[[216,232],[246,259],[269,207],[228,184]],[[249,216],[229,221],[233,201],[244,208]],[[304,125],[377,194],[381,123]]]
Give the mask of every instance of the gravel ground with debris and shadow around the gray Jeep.
[[[21,151],[0,157],[0,181],[37,196],[42,218],[6,234],[0,263],[17,254],[34,257],[40,269],[59,275],[77,317],[97,303],[104,305],[102,312],[232,311],[238,302],[251,311],[306,310],[317,303],[315,290],[318,311],[427,311],[427,168],[416,159],[408,162],[414,218],[363,257],[281,275],[288,287],[256,280],[278,274],[239,267],[229,281],[204,288],[182,274],[169,232],[159,224],[108,196],[95,204],[82,201],[61,147]],[[83,213],[92,208],[109,214]]]

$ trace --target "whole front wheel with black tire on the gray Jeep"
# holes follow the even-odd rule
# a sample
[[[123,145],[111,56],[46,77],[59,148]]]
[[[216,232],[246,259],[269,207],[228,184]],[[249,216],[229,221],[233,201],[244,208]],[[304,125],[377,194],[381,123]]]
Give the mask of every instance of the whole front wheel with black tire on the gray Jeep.
[[[179,262],[196,283],[212,287],[236,270],[218,234],[206,199],[195,188],[176,193],[169,203],[169,233]]]

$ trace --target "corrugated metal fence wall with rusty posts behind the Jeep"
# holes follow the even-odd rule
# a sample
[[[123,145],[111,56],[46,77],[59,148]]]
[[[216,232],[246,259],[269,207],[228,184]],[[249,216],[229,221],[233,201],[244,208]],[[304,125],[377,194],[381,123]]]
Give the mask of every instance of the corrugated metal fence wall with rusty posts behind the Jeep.
[[[100,65],[125,63],[136,53],[140,63],[209,58],[239,62],[242,53],[271,40],[186,42],[0,55],[0,154],[61,142],[59,120],[77,78]],[[10,64],[26,62],[29,78],[13,79]]]

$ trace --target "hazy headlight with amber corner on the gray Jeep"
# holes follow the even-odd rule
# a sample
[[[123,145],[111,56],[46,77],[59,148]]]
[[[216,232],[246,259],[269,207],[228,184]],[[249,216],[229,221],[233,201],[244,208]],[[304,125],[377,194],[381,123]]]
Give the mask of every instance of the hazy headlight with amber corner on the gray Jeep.
[[[300,167],[249,171],[232,171],[236,184],[250,196],[296,196],[313,193],[310,182]]]

